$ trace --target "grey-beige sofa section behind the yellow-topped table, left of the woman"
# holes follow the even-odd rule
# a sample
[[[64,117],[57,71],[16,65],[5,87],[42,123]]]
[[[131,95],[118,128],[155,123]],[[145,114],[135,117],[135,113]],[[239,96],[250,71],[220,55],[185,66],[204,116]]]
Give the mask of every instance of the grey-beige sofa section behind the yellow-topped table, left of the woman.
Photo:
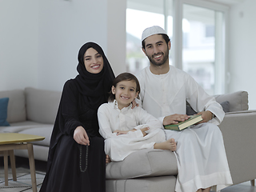
[[[34,159],[47,161],[61,92],[27,87],[25,90],[0,91],[0,98],[9,98],[7,122],[10,123],[10,126],[0,126],[0,133],[36,134],[45,137],[43,141],[34,142]],[[16,150],[14,154],[28,157],[26,150]]]

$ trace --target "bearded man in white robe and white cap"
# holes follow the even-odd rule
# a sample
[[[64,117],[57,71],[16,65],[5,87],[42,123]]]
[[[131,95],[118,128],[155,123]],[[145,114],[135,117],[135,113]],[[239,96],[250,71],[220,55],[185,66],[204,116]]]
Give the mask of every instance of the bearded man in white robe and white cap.
[[[175,191],[221,190],[232,184],[222,133],[222,106],[182,70],[169,65],[170,39],[166,31],[152,26],[143,31],[142,50],[150,66],[138,74],[142,108],[162,124],[176,124],[189,118],[186,102],[202,114],[202,122],[182,131],[165,130],[166,138],[177,142],[178,178]]]

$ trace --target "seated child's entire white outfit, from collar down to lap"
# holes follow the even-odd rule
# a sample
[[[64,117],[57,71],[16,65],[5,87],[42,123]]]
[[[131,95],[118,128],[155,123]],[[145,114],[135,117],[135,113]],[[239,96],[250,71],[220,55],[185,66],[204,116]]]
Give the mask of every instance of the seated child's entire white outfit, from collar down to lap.
[[[104,103],[98,108],[99,133],[105,138],[105,153],[112,161],[122,161],[136,150],[153,149],[154,144],[165,142],[166,136],[162,122],[136,106],[118,109],[118,103]],[[149,127],[143,137],[141,129]],[[133,130],[128,134],[117,135],[114,130]]]

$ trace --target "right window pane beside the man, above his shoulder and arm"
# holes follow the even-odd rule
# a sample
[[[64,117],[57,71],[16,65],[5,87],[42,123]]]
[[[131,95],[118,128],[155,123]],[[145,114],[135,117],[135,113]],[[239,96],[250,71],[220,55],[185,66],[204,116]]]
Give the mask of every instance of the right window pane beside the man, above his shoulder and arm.
[[[208,94],[214,94],[218,86],[215,84],[216,14],[215,10],[183,5],[182,69]]]

